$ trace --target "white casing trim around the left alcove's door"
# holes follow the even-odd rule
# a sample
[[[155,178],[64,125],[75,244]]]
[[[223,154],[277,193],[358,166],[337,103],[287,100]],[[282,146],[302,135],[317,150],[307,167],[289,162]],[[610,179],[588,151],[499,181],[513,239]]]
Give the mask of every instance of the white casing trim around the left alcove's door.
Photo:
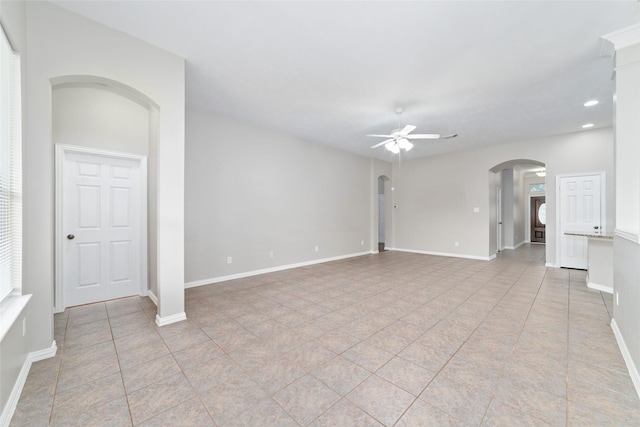
[[[137,160],[140,164],[140,197],[142,206],[140,207],[140,295],[146,296],[149,285],[147,283],[147,157],[131,153],[122,153],[118,151],[99,150],[95,148],[79,147],[66,144],[55,144],[55,275],[53,285],[53,312],[61,313],[65,310],[64,305],[64,286],[62,285],[62,243],[63,243],[63,226],[62,226],[62,195],[63,195],[63,178],[64,178],[64,161],[67,154],[90,154],[101,157],[111,157],[117,159]]]

